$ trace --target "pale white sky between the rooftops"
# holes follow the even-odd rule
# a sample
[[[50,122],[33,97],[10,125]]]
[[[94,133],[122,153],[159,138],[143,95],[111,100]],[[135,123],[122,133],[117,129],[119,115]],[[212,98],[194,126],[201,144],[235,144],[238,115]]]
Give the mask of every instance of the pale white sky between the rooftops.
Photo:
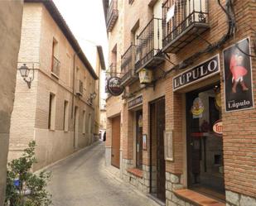
[[[70,27],[90,64],[95,67],[96,46],[104,50],[106,67],[108,64],[108,38],[104,20],[102,0],[53,0],[65,22]],[[104,80],[104,74],[102,75]],[[104,91],[104,85],[101,91]],[[105,93],[102,93],[102,98]]]

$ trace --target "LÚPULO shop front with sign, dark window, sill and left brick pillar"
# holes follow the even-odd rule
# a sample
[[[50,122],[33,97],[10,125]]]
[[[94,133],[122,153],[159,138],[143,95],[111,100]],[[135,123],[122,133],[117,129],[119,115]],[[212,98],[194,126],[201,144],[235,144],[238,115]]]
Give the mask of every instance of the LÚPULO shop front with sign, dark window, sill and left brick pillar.
[[[167,108],[173,110],[167,113],[164,137],[167,202],[222,205],[225,175],[220,55],[175,75],[171,95]]]

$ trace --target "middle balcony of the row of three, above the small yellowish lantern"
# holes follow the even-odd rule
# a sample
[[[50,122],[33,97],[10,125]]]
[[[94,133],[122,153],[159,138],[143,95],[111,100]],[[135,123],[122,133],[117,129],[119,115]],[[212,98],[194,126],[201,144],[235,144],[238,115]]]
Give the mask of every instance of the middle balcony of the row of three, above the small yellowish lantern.
[[[152,18],[138,35],[139,60],[135,64],[136,71],[142,68],[152,69],[160,65],[164,61],[161,50],[162,19]]]

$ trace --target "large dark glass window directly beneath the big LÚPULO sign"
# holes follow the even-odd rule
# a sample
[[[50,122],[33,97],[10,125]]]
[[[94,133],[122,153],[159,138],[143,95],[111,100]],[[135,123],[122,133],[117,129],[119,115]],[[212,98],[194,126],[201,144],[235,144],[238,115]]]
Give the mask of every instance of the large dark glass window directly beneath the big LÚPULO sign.
[[[188,188],[225,200],[221,116],[220,84],[186,93]]]

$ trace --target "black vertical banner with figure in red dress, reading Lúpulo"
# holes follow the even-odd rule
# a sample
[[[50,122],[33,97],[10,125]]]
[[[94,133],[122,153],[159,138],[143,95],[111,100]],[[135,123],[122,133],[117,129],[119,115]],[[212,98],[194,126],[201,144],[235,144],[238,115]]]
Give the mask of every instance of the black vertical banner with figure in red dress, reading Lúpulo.
[[[249,38],[223,51],[226,112],[254,108]]]

